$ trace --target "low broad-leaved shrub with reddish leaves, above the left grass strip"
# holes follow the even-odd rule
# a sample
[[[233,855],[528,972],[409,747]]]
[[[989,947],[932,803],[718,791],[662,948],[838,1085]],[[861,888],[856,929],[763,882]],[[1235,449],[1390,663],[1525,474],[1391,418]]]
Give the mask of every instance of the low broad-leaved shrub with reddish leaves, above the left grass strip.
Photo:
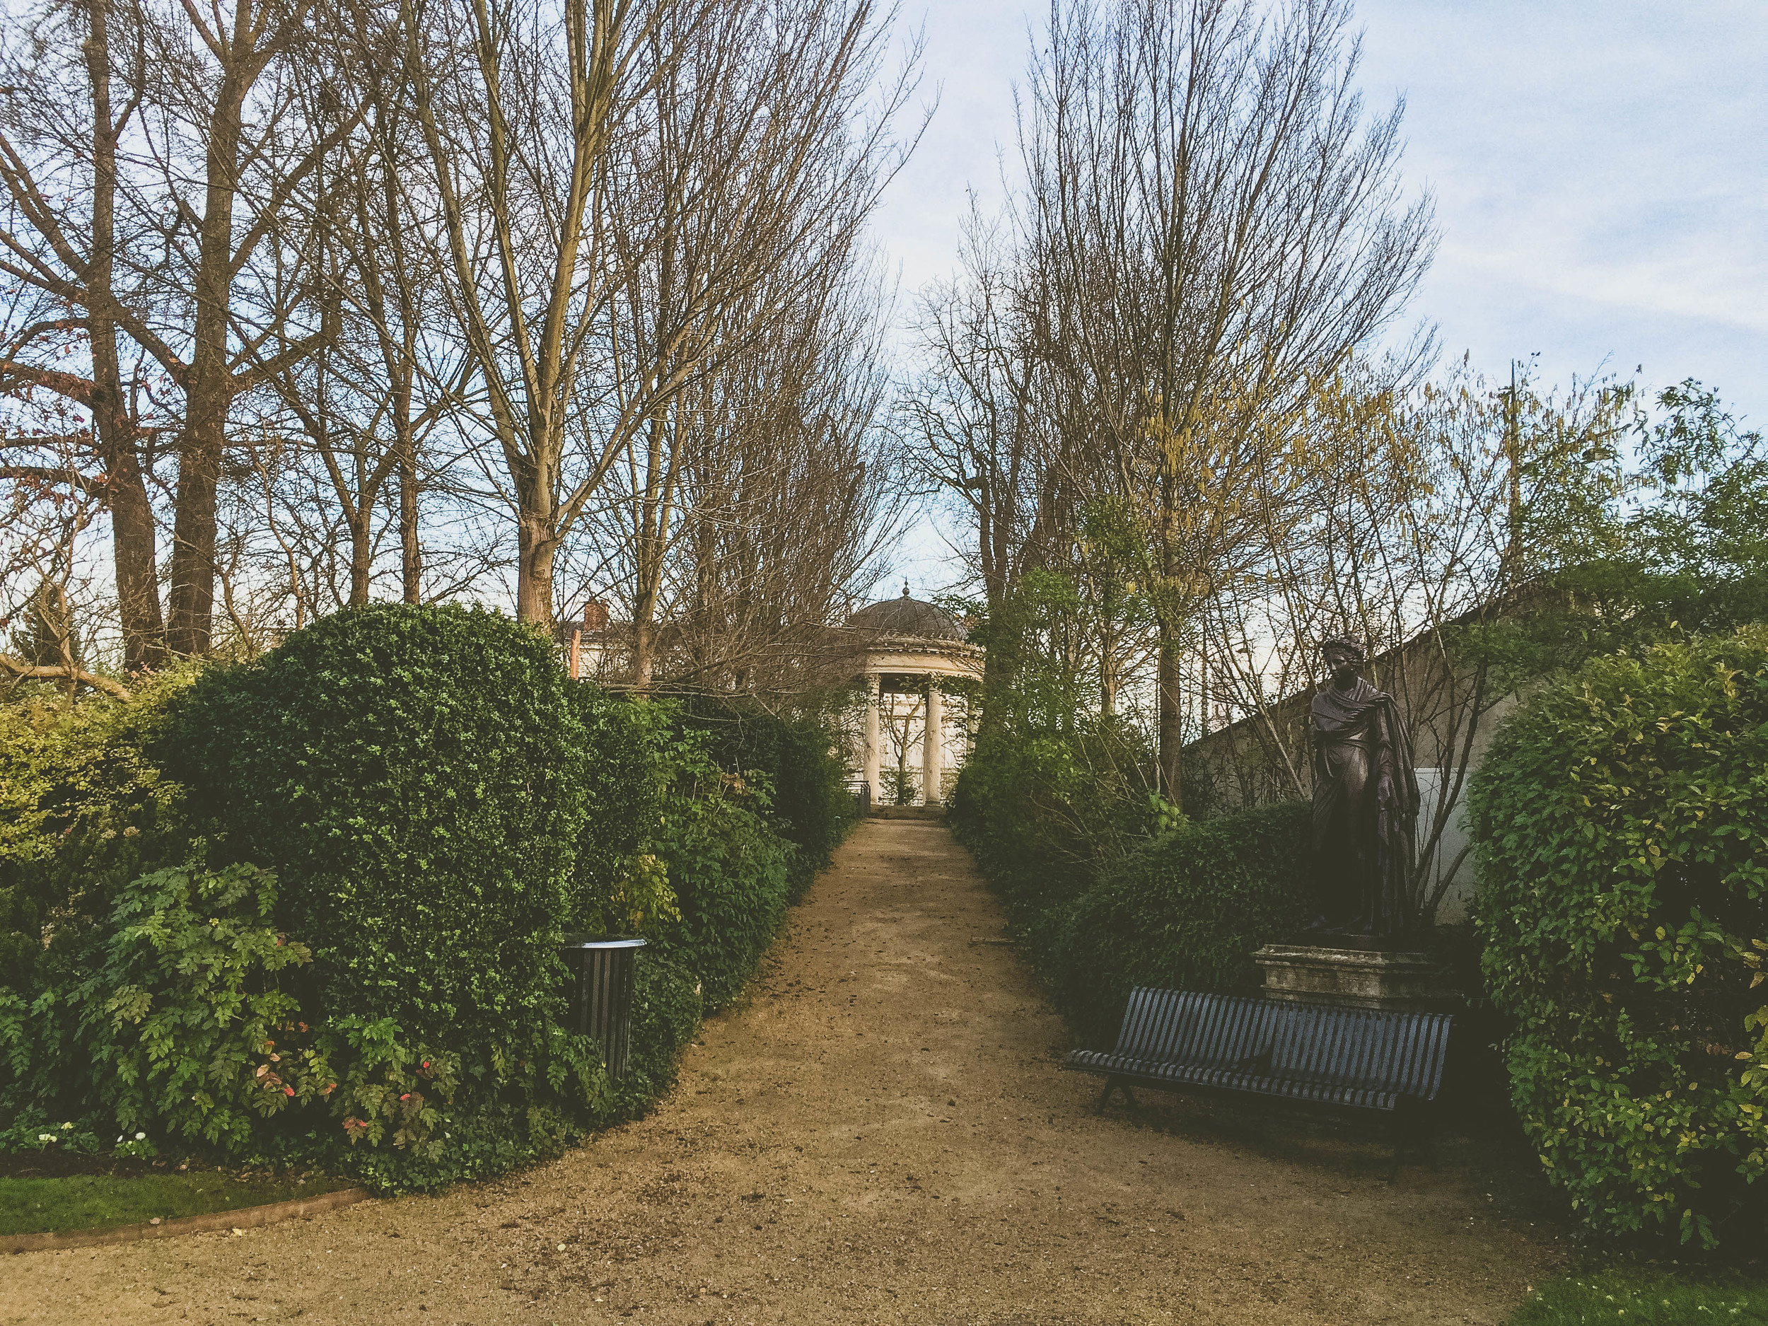
[[[156,870],[118,891],[108,925],[55,946],[34,999],[0,992],[14,1132],[62,1117],[133,1133],[131,1155],[170,1142],[306,1162],[385,1140],[433,1169],[458,1059],[384,1018],[309,1024],[290,976],[311,953],[276,926],[276,900],[251,865]]]

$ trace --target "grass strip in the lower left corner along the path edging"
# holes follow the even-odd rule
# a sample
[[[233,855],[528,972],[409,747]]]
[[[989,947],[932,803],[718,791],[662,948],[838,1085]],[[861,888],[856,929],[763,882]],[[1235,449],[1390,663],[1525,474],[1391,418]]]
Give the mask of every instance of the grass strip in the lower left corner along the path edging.
[[[196,1174],[65,1174],[0,1177],[0,1234],[138,1225],[209,1211],[315,1197],[347,1183],[327,1177],[249,1177]]]

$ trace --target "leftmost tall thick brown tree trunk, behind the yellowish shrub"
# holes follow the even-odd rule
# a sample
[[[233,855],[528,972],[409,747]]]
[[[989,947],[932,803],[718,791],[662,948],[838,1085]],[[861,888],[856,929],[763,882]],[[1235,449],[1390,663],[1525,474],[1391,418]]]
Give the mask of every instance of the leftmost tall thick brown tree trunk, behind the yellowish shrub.
[[[111,513],[111,559],[117,575],[117,612],[122,624],[124,668],[140,672],[164,663],[164,624],[159,615],[159,566],[154,550],[154,509],[147,499],[138,435],[122,391],[117,362],[117,324],[110,313],[111,269],[117,248],[117,133],[111,110],[110,0],[87,5],[92,37],[85,44],[92,81],[92,260],[87,269],[92,338],[92,431],[104,463],[106,504]]]

